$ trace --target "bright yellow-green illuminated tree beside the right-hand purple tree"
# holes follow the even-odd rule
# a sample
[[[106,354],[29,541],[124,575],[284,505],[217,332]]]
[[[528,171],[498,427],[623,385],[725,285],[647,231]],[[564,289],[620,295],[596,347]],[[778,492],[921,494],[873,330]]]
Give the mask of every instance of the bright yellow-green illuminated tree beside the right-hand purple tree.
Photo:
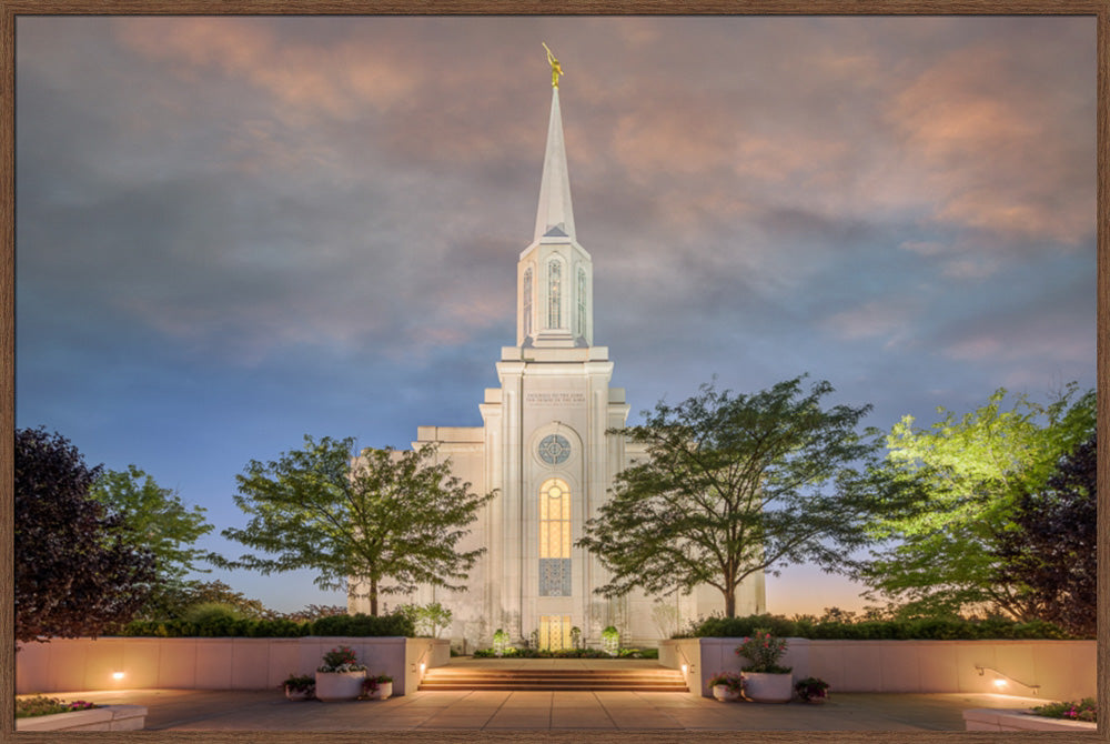
[[[1013,512],[1018,494],[1040,489],[1059,458],[1094,426],[1094,391],[1074,383],[1049,404],[1012,399],[999,389],[987,404],[926,429],[905,416],[887,436],[885,470],[915,475],[926,497],[911,514],[884,521],[877,535],[890,541],[858,572],[869,596],[901,603],[904,615],[1005,613],[1038,616],[1019,584],[1000,581],[996,535]]]

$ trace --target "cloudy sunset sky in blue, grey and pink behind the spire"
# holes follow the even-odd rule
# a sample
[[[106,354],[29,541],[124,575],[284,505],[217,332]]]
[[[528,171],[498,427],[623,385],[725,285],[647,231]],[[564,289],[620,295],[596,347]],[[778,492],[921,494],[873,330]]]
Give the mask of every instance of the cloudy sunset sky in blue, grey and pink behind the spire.
[[[635,412],[803,372],[866,423],[1094,384],[1092,18],[17,22],[17,425],[216,533],[304,434],[480,425],[559,57]],[[219,537],[206,546],[238,555]],[[215,573],[271,606],[309,573]],[[806,569],[771,612],[858,607]]]

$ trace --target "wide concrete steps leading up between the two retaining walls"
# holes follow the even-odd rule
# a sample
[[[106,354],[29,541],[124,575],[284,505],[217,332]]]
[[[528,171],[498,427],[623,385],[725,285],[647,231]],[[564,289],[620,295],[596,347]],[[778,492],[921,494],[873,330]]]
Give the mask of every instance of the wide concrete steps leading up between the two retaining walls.
[[[658,668],[475,668],[436,666],[420,690],[689,692],[678,670]]]

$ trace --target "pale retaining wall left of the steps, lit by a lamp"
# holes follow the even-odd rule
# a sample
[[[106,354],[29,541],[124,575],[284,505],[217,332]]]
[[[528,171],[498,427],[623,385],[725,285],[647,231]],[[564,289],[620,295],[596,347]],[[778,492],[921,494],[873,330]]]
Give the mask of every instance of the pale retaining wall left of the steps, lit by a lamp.
[[[16,693],[275,688],[290,674],[313,674],[340,645],[353,649],[369,674],[392,676],[394,695],[416,690],[421,664],[440,666],[451,656],[446,640],[400,636],[54,639],[16,654]]]

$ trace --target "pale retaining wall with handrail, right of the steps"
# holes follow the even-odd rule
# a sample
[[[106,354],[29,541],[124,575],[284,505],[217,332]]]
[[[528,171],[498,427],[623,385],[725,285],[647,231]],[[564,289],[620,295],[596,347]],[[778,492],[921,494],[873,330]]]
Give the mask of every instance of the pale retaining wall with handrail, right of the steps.
[[[694,694],[717,672],[738,672],[743,639],[659,643],[659,662],[687,665]],[[815,641],[789,639],[784,666],[839,692],[1001,693],[1051,700],[1096,694],[1096,641]],[[980,668],[982,672],[980,673]],[[996,682],[996,681],[1001,681]],[[1033,687],[1031,685],[1039,685]]]

